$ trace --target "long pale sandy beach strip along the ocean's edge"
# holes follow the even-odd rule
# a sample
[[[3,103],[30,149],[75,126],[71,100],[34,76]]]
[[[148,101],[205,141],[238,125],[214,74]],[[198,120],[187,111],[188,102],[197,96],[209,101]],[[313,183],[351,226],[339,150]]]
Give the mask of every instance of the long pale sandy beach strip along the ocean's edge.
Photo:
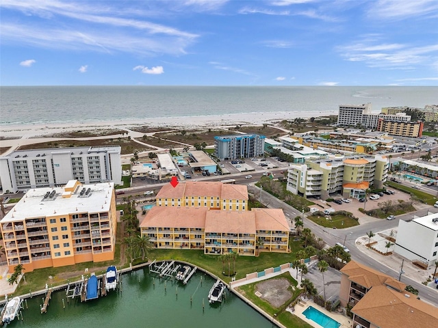
[[[20,137],[31,138],[40,135],[60,133],[77,130],[94,130],[96,128],[129,128],[133,126],[150,126],[172,128],[209,128],[235,125],[261,125],[276,124],[281,120],[294,118],[311,118],[328,115],[337,115],[337,111],[307,111],[307,112],[261,112],[240,113],[231,115],[207,116],[175,116],[172,118],[151,118],[148,120],[101,120],[90,122],[48,122],[37,124],[0,124],[0,131],[5,138]]]

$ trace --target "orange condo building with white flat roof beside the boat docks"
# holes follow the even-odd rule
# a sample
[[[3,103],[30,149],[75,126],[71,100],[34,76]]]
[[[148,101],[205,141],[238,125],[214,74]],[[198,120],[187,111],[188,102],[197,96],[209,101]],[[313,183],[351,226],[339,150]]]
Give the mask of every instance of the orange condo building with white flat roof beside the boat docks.
[[[114,182],[30,189],[0,221],[9,272],[114,260]]]

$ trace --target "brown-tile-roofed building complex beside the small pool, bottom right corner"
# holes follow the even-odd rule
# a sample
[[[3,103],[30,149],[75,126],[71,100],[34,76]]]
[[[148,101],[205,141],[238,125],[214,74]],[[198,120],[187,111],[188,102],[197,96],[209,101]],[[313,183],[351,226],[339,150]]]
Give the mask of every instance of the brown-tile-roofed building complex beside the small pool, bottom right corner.
[[[404,290],[406,284],[355,261],[341,273],[339,301],[350,306],[352,327],[438,327],[438,309]]]

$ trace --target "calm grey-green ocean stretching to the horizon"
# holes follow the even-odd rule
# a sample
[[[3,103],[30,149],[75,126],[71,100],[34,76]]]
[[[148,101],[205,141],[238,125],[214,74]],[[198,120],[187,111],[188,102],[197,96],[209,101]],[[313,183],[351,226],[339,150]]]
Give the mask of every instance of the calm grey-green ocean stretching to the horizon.
[[[337,111],[341,104],[438,104],[438,87],[0,87],[0,125],[88,123],[266,112]]]

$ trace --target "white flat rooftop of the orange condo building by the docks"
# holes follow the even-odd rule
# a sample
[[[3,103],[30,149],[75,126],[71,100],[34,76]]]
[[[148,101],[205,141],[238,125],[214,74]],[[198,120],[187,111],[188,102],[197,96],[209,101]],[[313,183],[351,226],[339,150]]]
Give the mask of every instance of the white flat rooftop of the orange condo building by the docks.
[[[71,187],[70,182],[66,186]],[[89,193],[81,190],[90,188]],[[55,193],[46,197],[47,193]],[[29,189],[21,200],[10,210],[0,223],[23,221],[29,218],[51,217],[75,213],[100,213],[110,210],[114,182],[80,184],[73,192],[64,187]],[[63,197],[70,195],[70,197]]]

